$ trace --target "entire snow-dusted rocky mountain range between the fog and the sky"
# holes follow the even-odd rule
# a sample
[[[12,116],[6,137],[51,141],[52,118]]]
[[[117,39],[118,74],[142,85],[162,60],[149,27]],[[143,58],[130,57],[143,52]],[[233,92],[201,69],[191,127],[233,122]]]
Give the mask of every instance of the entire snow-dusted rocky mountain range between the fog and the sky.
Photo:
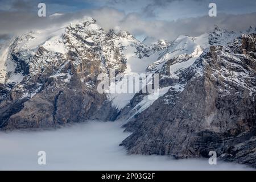
[[[86,18],[0,47],[0,128],[126,119],[130,153],[255,166],[256,34],[221,30],[143,42]],[[97,92],[98,75],[159,74],[159,96]],[[126,84],[122,79],[119,84]],[[243,155],[246,153],[246,157]]]

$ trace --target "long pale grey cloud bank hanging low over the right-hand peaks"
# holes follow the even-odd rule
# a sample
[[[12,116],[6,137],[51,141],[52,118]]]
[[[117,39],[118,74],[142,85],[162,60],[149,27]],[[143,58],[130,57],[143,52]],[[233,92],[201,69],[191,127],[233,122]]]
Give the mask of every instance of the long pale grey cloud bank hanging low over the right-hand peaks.
[[[144,35],[158,39],[173,40],[181,34],[199,36],[204,32],[213,30],[215,24],[220,28],[230,31],[246,30],[250,26],[256,26],[255,17],[256,13],[243,15],[220,14],[216,18],[202,16],[199,18],[187,18],[167,22],[161,20],[144,21],[136,15],[130,15],[119,23],[119,26],[130,32],[143,32]]]

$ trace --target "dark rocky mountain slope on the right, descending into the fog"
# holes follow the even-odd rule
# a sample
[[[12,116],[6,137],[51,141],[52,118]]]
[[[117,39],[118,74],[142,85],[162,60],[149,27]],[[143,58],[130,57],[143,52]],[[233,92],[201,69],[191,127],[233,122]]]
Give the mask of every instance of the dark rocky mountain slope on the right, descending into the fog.
[[[191,67],[177,73],[178,80],[169,78],[169,83],[185,83],[184,90],[168,90],[126,123],[133,134],[122,144],[130,154],[175,158],[208,157],[213,150],[222,159],[255,167],[254,54],[254,34],[205,49]]]

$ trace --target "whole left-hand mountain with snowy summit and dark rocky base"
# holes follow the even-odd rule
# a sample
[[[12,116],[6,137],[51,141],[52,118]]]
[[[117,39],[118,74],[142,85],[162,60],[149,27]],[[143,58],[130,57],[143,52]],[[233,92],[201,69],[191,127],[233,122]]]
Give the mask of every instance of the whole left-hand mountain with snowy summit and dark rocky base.
[[[97,76],[126,68],[125,57],[114,44],[118,35],[105,32],[94,19],[72,23],[62,34],[53,34],[35,48],[30,46],[35,37],[43,36],[37,32],[19,36],[11,44],[7,62],[15,69],[1,84],[2,130],[54,128],[99,118],[105,108],[106,96],[97,92]],[[115,109],[110,104],[104,113],[100,118],[109,120]]]

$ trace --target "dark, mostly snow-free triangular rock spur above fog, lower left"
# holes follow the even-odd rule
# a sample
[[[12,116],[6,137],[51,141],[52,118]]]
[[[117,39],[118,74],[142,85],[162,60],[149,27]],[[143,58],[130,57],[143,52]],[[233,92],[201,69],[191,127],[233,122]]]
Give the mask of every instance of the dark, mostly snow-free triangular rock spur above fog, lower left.
[[[13,113],[2,121],[2,129],[56,127],[68,122],[83,121],[93,98],[81,84],[70,62],[65,64],[59,74],[60,80],[55,77],[39,77],[42,80],[38,80],[40,84],[35,89],[36,93],[29,93],[31,91],[28,90],[28,93],[14,100],[8,108]]]

